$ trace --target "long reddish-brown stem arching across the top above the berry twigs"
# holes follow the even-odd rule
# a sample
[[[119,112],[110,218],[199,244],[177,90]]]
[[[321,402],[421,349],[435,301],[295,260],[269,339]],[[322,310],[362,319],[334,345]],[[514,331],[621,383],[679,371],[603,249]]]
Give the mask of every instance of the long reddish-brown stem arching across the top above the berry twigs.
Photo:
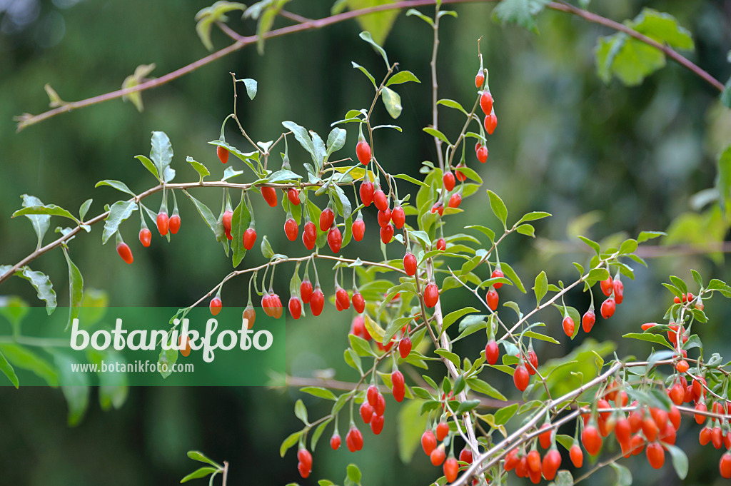
[[[443,0],[442,4],[461,4],[461,3],[472,3],[477,0]],[[496,1],[496,0],[484,0],[485,2],[488,1]],[[295,32],[300,31],[308,31],[311,29],[322,29],[323,27],[333,25],[334,23],[343,22],[344,20],[349,20],[352,18],[360,17],[361,15],[368,15],[375,12],[383,12],[386,10],[396,10],[396,9],[403,9],[403,8],[413,8],[413,7],[423,7],[425,5],[433,5],[436,4],[436,0],[403,0],[403,1],[396,1],[392,4],[383,4],[383,5],[377,5],[376,7],[368,7],[365,9],[360,10],[352,10],[349,12],[343,12],[339,13],[338,15],[331,15],[330,17],[321,18],[318,20],[307,20],[302,23],[298,23],[294,26],[287,26],[282,27],[281,29],[275,29],[273,31],[269,31],[266,34],[264,34],[265,39],[270,39],[273,37],[281,37],[287,34],[294,34]],[[654,41],[653,39],[640,34],[639,32],[630,29],[627,26],[624,26],[621,23],[618,23],[614,20],[610,20],[608,18],[602,17],[601,15],[596,15],[594,13],[588,12],[586,10],[582,10],[577,7],[573,7],[572,5],[568,4],[560,4],[556,2],[551,2],[548,4],[548,8],[552,10],[558,10],[560,12],[567,12],[571,13],[573,15],[577,15],[577,17],[583,18],[584,20],[588,20],[591,23],[598,23],[602,26],[607,26],[610,29],[615,29],[617,31],[624,32],[625,34],[634,37],[635,39],[639,40],[640,42],[644,42],[647,45],[651,45],[652,47],[659,49],[669,58],[672,58],[674,61],[678,62],[678,64],[681,64],[681,66],[685,67],[686,69],[689,69],[691,72],[693,72],[695,75],[701,77],[703,80],[707,81],[711,86],[718,89],[719,91],[724,91],[724,85],[719,80],[716,80],[713,76],[708,74],[708,72],[705,72],[703,69],[698,67],[696,64],[694,64],[692,61],[690,61],[688,58],[685,58],[681,56],[681,54],[677,53],[672,48],[669,48],[665,45],[660,44],[659,42]],[[223,29],[223,28],[222,28]],[[162,77],[158,77],[154,80],[148,80],[145,81],[145,83],[141,83],[137,86],[133,86],[131,88],[126,89],[119,89],[117,91],[111,91],[110,93],[101,94],[99,96],[93,96],[91,98],[83,99],[78,102],[69,102],[64,103],[64,105],[60,107],[53,108],[53,110],[45,111],[44,113],[40,113],[39,115],[31,115],[29,113],[25,113],[23,115],[20,115],[18,117],[15,117],[15,121],[18,121],[18,132],[20,130],[26,128],[27,126],[31,126],[34,124],[37,124],[39,121],[47,120],[48,118],[52,118],[53,116],[60,115],[61,113],[67,113],[72,110],[77,110],[78,108],[87,107],[91,105],[96,105],[98,103],[109,101],[110,99],[117,99],[121,98],[122,96],[127,96],[132,93],[137,93],[138,91],[145,91],[151,88],[156,88],[157,86],[162,86],[165,83],[169,83],[172,80],[177,79],[178,77],[182,77],[183,75],[187,75],[190,72],[195,71],[196,69],[205,66],[206,64],[210,64],[213,61],[217,61],[219,58],[222,58],[224,56],[227,56],[230,53],[233,53],[237,50],[240,50],[241,48],[246,47],[247,45],[253,44],[257,42],[257,36],[241,36],[240,34],[237,34],[235,31],[232,31],[231,29],[223,29],[224,33],[227,34],[229,37],[232,37],[232,39],[235,39],[236,42],[234,42],[232,45],[228,46],[227,48],[223,48],[221,50],[216,51],[215,53],[209,54],[208,56],[205,56],[204,58],[201,58],[197,61],[194,61],[191,64],[188,64],[187,66],[181,67],[180,69],[176,69],[173,72],[168,73],[167,75],[164,75]]]

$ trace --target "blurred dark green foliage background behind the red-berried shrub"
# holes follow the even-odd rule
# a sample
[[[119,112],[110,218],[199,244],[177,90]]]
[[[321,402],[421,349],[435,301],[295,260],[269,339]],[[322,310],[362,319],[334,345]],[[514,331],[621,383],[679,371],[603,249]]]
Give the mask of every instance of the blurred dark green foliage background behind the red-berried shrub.
[[[20,194],[34,194],[45,203],[74,212],[93,197],[91,215],[120,197],[108,187],[94,189],[96,181],[118,179],[135,191],[152,186],[154,181],[133,157],[149,153],[153,130],[170,136],[175,150],[173,166],[178,169],[176,181],[197,180],[184,163],[185,156],[207,164],[212,176],[220,177],[223,167],[207,142],[218,137],[221,121],[232,110],[229,72],[259,82],[256,99],[251,102],[240,96],[238,107],[254,140],[276,139],[283,130],[283,120],[326,135],[330,123],[343,118],[346,110],[370,105],[370,83],[352,69],[350,61],[380,78],[382,60],[358,39],[357,23],[349,20],[322,30],[270,39],[265,56],[257,55],[252,46],[145,92],[143,113],[137,113],[131,103],[115,100],[15,132],[14,115],[47,109],[45,83],[64,100],[83,99],[119,88],[139,64],[155,63],[152,75],[159,76],[205,56],[208,52],[195,34],[193,18],[206,6],[205,0],[0,0],[0,264],[15,263],[34,249],[35,237],[28,221],[10,219],[20,208]],[[594,1],[591,9],[624,20],[645,6],[675,15],[692,31],[696,50],[688,53],[689,57],[717,79],[727,79],[731,73],[727,62],[731,48],[728,1]],[[331,2],[300,0],[288,7],[309,18],[320,18],[328,14]],[[648,77],[642,86],[627,88],[616,81],[605,86],[596,76],[594,46],[598,36],[611,31],[567,14],[545,12],[536,35],[491,21],[492,4],[459,4],[454,9],[459,18],[444,18],[442,23],[440,97],[471,106],[478,67],[477,39],[482,36],[499,118],[496,134],[489,141],[487,164],[477,163],[471,150],[468,163],[480,172],[487,188],[501,195],[512,219],[529,210],[547,210],[554,215],[537,224],[539,238],[516,235],[501,251],[501,259],[510,262],[524,282],[533,281],[541,268],[552,282],[575,278],[570,262],[588,260],[575,238],[577,233],[593,239],[616,238],[618,232],[634,237],[643,229],[665,230],[681,214],[694,212],[691,196],[713,186],[718,153],[731,142],[731,115],[721,107],[713,88],[673,63]],[[431,12],[431,7],[423,11]],[[238,15],[231,18],[232,28],[254,31],[251,20],[242,21]],[[280,19],[276,25],[287,23]],[[213,42],[222,48],[227,39],[214,29]],[[421,130],[431,123],[431,31],[425,23],[401,12],[385,48],[392,61],[414,72],[422,83],[397,87],[404,112],[396,123],[404,133],[379,131],[377,155],[387,170],[417,175],[423,160],[435,159],[433,142]],[[440,128],[453,137],[461,127],[461,118],[453,110],[440,111]],[[376,118],[391,123],[381,105],[376,108]],[[354,153],[354,127],[345,126],[349,133],[344,156]],[[249,150],[233,130],[227,132],[227,140]],[[291,148],[293,167],[301,171],[308,156],[299,147]],[[414,186],[408,183],[402,188],[415,194]],[[217,213],[218,191],[193,194]],[[148,202],[156,208],[157,202]],[[494,227],[496,220],[485,213],[486,202],[484,192],[465,200],[464,213],[453,217],[447,229],[459,232],[466,224]],[[105,289],[110,305],[185,306],[216,285],[230,271],[230,260],[211,240],[189,201],[179,198],[179,203],[183,224],[170,245],[154,238],[151,248],[143,251],[137,244],[137,213],[123,226],[124,237],[135,254],[134,265],[124,264],[113,244],[99,244],[99,225],[91,235],[74,240],[71,256],[83,273],[86,289]],[[265,213],[268,208],[260,199],[254,201],[254,210],[261,215],[257,217],[260,238],[269,235],[275,251],[304,254],[299,241],[289,243],[284,238],[281,211],[264,217],[271,213]],[[376,238],[375,227],[375,214],[369,212],[367,238]],[[714,228],[721,233],[720,238],[725,236],[726,224]],[[50,238],[48,235],[46,241]],[[398,248],[390,251],[391,257],[400,257]],[[353,243],[346,254],[379,258],[377,246],[368,244]],[[243,265],[262,262],[260,253],[251,251]],[[51,277],[63,305],[67,269],[61,253],[53,251],[31,266]],[[648,354],[648,346],[627,343],[618,336],[637,330],[642,322],[662,319],[670,297],[659,282],[669,273],[690,281],[690,268],[705,278],[731,278],[722,257],[715,262],[702,254],[652,258],[649,270],[637,268],[636,280],[625,280],[625,303],[610,322],[599,322],[592,337],[621,341],[620,356]],[[284,301],[289,272],[291,269],[277,273],[277,289]],[[224,305],[245,305],[246,283],[228,284]],[[4,284],[0,293],[21,295],[34,302],[34,292],[18,278]],[[532,298],[513,288],[504,295],[501,298],[520,303],[529,303]],[[577,292],[570,300],[579,309],[588,305],[588,298]],[[447,310],[474,304],[469,294],[460,290],[444,301]],[[725,302],[706,305],[711,317],[702,329],[702,338],[711,348],[707,354],[730,351],[724,328],[731,315],[729,308]],[[289,322],[289,372],[311,376],[314,370],[335,368],[338,379],[354,379],[341,355],[351,318],[327,305],[319,319]],[[549,329],[558,329],[558,312],[549,311],[543,319]],[[2,326],[0,329],[5,330]],[[583,339],[581,333],[575,343],[539,346],[539,359],[543,362],[564,355]],[[475,338],[461,345],[458,352],[474,357],[482,346],[481,338]],[[493,381],[492,376],[490,379]],[[503,376],[494,376],[494,381],[501,390],[512,390]],[[189,449],[230,461],[230,485],[297,481],[294,449],[281,460],[279,444],[299,428],[292,413],[299,395],[296,390],[136,388],[130,390],[120,410],[102,412],[92,404],[86,419],[76,428],[68,428],[66,405],[58,390],[23,388],[22,384],[20,390],[4,387],[0,390],[0,483],[173,485],[197,467],[186,458]],[[328,405],[322,400],[306,398],[306,402],[311,416],[327,413]],[[374,437],[362,428],[366,446],[357,455],[327,449],[328,428],[321,449],[314,455],[311,478],[341,481],[346,464],[353,460],[363,469],[366,485],[428,484],[441,475],[420,452],[412,465],[401,463],[396,450],[396,409],[389,398],[381,436]],[[343,435],[346,425],[341,417]],[[686,425],[678,436],[678,444],[688,452],[692,464],[684,484],[720,482],[716,466],[720,454],[701,450],[697,433],[697,427]],[[635,474],[635,484],[679,483],[670,466],[648,474],[644,458],[625,463]],[[315,484],[314,479],[300,483]],[[600,473],[596,480],[613,484],[613,473]],[[516,479],[510,479],[513,481]]]

